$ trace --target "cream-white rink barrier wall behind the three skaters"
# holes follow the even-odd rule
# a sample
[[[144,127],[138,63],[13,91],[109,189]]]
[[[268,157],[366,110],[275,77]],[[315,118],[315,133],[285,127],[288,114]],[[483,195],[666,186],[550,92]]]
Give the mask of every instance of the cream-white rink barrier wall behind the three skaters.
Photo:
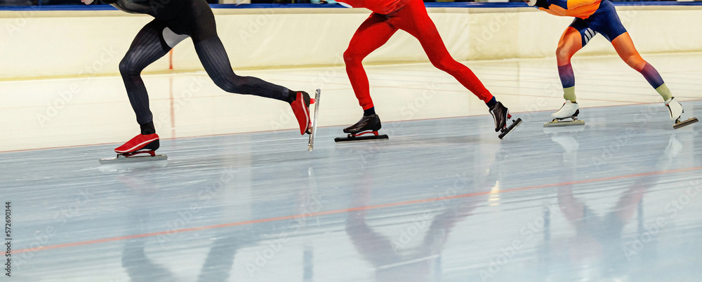
[[[702,6],[620,6],[642,53],[702,51]],[[456,60],[551,57],[571,18],[533,8],[430,8]],[[215,9],[234,69],[343,65],[342,54],[366,9]],[[133,37],[152,18],[120,11],[0,11],[0,79],[117,74]],[[597,36],[579,55],[615,54]],[[409,34],[397,32],[366,64],[426,62]],[[173,51],[176,71],[201,70],[192,41]],[[166,72],[168,56],[146,72]]]

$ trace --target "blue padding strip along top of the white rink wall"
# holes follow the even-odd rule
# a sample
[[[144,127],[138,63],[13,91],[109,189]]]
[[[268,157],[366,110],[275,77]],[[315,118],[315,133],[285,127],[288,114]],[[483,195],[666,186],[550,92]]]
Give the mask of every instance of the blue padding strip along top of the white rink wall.
[[[614,6],[702,6],[702,1],[645,1],[645,2],[612,2]],[[211,4],[219,9],[246,8],[345,8],[339,4]],[[475,3],[475,2],[428,2],[427,8],[520,8],[528,7],[523,2],[505,3]],[[44,6],[0,6],[0,11],[113,11],[110,5],[44,5]]]

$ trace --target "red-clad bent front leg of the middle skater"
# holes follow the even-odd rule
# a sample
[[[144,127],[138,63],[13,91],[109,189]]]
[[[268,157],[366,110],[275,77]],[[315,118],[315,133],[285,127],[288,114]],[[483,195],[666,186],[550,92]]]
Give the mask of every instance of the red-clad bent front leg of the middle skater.
[[[366,116],[374,113],[368,112],[369,109],[371,111],[373,109],[373,100],[371,100],[368,76],[363,69],[362,61],[368,54],[388,42],[390,36],[397,32],[397,28],[392,27],[387,20],[388,17],[385,15],[371,14],[356,30],[344,52],[346,73],[359,105],[366,111],[364,112]]]

